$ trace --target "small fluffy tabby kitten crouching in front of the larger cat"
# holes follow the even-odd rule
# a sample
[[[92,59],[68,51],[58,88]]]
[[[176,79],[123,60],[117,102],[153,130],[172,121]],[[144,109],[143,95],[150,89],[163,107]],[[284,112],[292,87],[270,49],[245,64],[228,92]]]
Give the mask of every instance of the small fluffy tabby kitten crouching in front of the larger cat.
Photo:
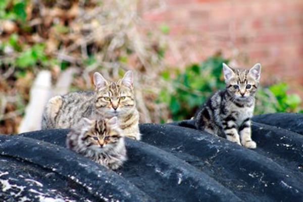
[[[66,145],[76,153],[112,170],[126,161],[126,148],[117,117],[110,120],[83,118],[66,137]]]

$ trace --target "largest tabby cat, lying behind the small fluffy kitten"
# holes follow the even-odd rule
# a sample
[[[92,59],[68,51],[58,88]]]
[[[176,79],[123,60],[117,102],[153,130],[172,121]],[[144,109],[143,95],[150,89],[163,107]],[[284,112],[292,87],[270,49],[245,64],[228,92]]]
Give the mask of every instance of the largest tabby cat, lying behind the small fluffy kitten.
[[[70,92],[49,99],[42,115],[42,129],[70,128],[82,117],[116,116],[123,134],[140,140],[133,73],[128,71],[122,79],[110,82],[95,72],[93,82],[95,91]]]

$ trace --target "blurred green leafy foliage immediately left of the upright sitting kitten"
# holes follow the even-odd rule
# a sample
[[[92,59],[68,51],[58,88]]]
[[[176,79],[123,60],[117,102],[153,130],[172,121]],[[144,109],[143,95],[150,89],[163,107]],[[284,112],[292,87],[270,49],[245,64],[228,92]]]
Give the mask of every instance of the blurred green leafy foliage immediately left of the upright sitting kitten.
[[[212,92],[224,87],[221,71],[222,63],[227,62],[221,56],[211,57],[185,68],[184,73],[175,70],[175,79],[169,78],[169,72],[162,73],[162,77],[172,83],[173,89],[162,89],[159,99],[167,103],[173,120],[189,119]]]

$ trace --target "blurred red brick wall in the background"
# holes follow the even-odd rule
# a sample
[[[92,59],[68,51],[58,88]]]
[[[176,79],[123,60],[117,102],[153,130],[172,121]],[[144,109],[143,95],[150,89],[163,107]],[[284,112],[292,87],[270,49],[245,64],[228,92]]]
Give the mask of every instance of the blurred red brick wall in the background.
[[[222,51],[240,66],[260,62],[263,83],[278,78],[303,95],[302,0],[142,0],[140,5],[143,19],[171,28],[181,53],[169,54],[171,64],[199,62]]]

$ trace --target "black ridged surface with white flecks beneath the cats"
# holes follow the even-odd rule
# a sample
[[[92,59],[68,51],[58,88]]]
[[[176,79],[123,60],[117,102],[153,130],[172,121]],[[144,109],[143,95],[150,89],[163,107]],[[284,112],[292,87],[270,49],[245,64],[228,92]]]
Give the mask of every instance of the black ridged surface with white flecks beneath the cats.
[[[253,120],[254,150],[191,120],[141,124],[117,171],[65,148],[68,129],[0,135],[0,201],[303,201],[303,115]]]

